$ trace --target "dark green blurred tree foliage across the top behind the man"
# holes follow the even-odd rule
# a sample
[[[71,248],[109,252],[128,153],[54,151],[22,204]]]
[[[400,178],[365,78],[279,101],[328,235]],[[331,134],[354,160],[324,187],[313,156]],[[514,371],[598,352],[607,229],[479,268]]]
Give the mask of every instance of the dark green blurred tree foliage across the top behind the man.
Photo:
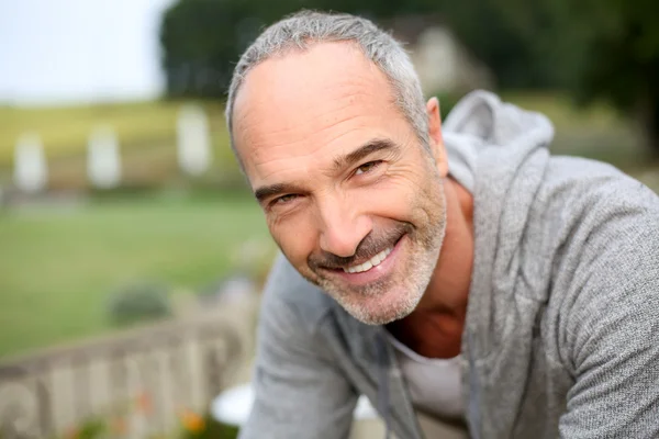
[[[265,25],[302,8],[376,21],[433,13],[502,88],[560,88],[637,117],[659,151],[657,0],[179,0],[163,21],[170,95],[224,97],[241,53]]]

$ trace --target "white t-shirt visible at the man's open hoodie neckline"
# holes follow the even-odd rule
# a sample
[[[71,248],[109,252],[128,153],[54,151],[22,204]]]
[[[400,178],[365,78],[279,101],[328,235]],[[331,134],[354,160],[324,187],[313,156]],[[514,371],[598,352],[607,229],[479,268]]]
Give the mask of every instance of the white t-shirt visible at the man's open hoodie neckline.
[[[449,359],[426,358],[387,334],[395,348],[412,405],[439,418],[463,418],[460,356]]]

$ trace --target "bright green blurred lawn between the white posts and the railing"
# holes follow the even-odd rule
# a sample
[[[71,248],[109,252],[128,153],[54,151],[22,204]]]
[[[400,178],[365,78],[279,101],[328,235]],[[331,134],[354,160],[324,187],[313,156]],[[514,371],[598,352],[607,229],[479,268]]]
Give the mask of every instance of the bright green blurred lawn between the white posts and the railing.
[[[0,212],[0,356],[107,330],[105,300],[126,282],[213,282],[254,239],[272,246],[256,203],[236,195]]]

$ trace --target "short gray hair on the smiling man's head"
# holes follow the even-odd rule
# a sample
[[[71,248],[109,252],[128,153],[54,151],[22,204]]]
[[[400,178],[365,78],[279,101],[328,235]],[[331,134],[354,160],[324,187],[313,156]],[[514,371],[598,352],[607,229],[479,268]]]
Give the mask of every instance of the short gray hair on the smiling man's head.
[[[357,44],[364,55],[387,76],[393,88],[395,104],[412,124],[418,139],[428,148],[428,121],[421,81],[401,43],[359,16],[301,11],[266,29],[245,50],[234,69],[226,102],[226,124],[234,151],[233,106],[249,70],[270,57],[292,49],[304,50],[323,42]]]

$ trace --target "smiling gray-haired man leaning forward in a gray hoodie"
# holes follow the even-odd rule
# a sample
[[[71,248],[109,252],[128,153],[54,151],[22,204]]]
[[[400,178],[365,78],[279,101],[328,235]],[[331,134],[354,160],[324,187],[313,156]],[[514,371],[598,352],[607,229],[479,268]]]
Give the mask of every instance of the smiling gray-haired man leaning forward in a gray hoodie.
[[[283,254],[243,438],[346,437],[360,394],[399,438],[417,413],[473,438],[659,437],[649,189],[550,157],[550,123],[487,92],[443,127],[400,44],[350,15],[267,29],[227,122]]]

